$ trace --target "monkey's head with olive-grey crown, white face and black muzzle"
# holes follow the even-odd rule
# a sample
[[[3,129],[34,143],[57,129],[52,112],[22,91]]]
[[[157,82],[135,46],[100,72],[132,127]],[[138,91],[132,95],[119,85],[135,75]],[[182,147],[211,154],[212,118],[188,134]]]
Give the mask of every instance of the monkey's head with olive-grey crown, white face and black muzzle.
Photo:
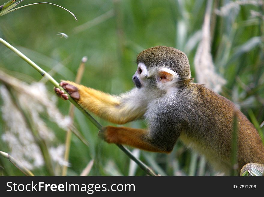
[[[167,89],[183,79],[190,79],[190,64],[180,50],[167,46],[155,46],[137,55],[137,71],[133,82],[137,88],[157,87]]]

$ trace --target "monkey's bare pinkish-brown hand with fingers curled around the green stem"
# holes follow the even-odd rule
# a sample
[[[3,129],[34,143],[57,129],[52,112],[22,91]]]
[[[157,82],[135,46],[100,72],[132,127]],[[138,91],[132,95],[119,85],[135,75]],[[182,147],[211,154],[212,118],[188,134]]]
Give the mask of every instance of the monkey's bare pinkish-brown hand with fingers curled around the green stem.
[[[75,86],[73,85],[70,85],[66,82],[60,82],[60,86],[66,90],[66,92],[68,94],[70,94],[70,96],[74,99],[80,99],[80,94],[78,92],[78,88],[76,88]],[[54,91],[56,94],[58,94],[59,97],[61,97],[62,99],[64,100],[68,100],[68,95],[67,94],[64,94],[64,91],[63,90],[60,90],[59,88],[54,88]]]

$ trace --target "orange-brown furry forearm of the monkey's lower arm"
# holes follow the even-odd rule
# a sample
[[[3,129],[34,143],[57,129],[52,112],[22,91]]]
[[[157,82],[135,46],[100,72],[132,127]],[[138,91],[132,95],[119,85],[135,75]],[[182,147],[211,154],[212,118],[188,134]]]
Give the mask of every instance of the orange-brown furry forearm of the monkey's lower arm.
[[[172,150],[158,147],[149,137],[149,131],[128,127],[103,127],[99,136],[108,143],[124,144],[146,151],[170,153]],[[156,144],[156,145],[155,145]]]

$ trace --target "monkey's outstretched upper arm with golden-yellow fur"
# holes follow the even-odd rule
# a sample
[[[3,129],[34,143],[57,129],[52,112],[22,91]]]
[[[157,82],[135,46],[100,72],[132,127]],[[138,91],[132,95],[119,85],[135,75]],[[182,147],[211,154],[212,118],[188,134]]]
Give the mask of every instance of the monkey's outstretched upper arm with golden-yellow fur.
[[[77,88],[79,99],[75,100],[82,108],[93,112],[107,121],[125,124],[142,117],[146,111],[146,107],[140,106],[140,103],[129,99],[130,93],[123,94],[120,97],[113,96],[74,82],[65,82]],[[67,91],[65,86],[62,87]]]

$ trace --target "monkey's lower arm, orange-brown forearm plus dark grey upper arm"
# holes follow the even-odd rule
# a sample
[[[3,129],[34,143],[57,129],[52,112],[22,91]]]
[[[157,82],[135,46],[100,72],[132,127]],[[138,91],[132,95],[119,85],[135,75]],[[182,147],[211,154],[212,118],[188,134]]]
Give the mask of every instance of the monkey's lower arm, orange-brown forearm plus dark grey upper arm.
[[[108,143],[129,145],[152,152],[170,153],[179,138],[180,131],[181,124],[173,124],[169,117],[165,118],[161,124],[150,122],[148,129],[107,126],[99,131],[99,136]]]

